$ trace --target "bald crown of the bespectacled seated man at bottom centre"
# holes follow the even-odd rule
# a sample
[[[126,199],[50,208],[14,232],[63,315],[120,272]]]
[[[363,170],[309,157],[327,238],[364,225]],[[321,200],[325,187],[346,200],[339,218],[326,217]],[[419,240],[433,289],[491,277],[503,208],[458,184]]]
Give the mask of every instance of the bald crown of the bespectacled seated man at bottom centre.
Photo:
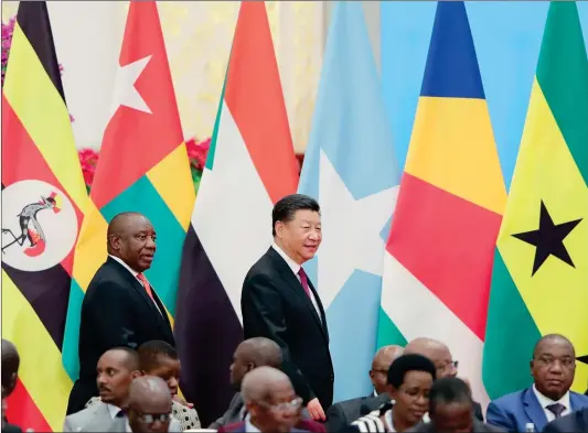
[[[243,379],[240,392],[245,403],[267,401],[280,391],[293,393],[292,383],[286,374],[272,367],[258,367]]]

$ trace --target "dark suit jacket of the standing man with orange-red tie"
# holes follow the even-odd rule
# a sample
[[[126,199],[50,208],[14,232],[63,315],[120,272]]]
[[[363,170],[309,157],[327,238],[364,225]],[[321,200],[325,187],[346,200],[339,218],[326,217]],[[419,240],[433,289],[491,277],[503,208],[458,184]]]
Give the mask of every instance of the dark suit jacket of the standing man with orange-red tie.
[[[70,394],[67,414],[84,409],[98,396],[98,358],[117,346],[138,348],[159,339],[174,345],[165,308],[153,290],[153,301],[142,284],[119,262],[108,257],[92,279],[82,302],[79,322],[79,379]]]

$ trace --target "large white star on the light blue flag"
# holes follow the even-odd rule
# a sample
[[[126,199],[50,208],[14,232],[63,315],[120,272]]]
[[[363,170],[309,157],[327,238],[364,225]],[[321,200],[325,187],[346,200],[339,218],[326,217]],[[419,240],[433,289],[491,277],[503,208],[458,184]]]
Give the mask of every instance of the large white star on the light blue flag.
[[[381,232],[389,220],[398,186],[355,199],[321,149],[319,197],[323,241],[318,286],[327,310],[355,269],[382,275],[386,242]]]

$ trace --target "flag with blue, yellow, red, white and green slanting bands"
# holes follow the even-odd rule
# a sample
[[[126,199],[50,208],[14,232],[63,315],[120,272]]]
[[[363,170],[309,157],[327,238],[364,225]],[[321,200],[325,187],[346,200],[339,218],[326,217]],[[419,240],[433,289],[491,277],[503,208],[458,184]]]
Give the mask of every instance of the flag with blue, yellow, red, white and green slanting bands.
[[[505,204],[466,4],[439,1],[384,259],[378,344],[447,344],[482,404],[485,315]]]

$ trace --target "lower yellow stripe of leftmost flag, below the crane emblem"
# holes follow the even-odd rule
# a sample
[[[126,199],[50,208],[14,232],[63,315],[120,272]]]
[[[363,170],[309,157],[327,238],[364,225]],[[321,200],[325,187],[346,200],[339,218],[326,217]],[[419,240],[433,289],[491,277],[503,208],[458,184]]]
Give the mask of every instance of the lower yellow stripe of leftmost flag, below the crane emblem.
[[[61,432],[72,380],[33,307],[2,270],[2,337],[19,348],[19,377],[54,432]]]

